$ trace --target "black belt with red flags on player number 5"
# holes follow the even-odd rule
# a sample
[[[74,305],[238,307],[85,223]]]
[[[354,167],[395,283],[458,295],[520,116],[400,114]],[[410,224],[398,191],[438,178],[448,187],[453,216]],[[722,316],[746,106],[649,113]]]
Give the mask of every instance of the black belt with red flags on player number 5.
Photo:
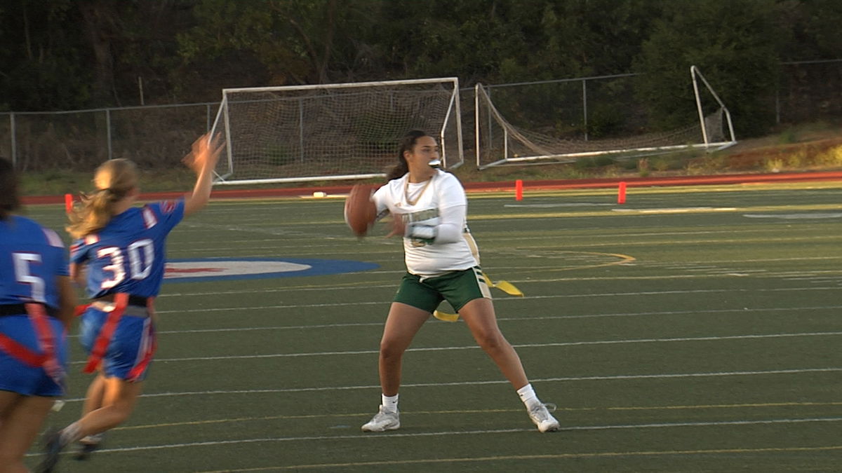
[[[50,375],[57,385],[62,385],[64,369],[56,359],[56,339],[53,337],[50,321],[47,320],[47,317],[55,316],[55,313],[55,309],[37,302],[0,305],[0,315],[2,316],[24,314],[29,316],[29,321],[32,322],[35,335],[38,337],[40,353],[3,333],[0,333],[0,350],[32,368],[43,367],[47,375]]]

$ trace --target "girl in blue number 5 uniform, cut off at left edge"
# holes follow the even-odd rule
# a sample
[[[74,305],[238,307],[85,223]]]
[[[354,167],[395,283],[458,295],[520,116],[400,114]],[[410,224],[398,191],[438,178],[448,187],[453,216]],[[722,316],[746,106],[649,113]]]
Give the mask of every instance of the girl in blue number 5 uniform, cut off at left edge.
[[[3,158],[0,189],[0,471],[26,471],[24,454],[64,394],[76,295],[61,238],[13,215],[17,179]]]

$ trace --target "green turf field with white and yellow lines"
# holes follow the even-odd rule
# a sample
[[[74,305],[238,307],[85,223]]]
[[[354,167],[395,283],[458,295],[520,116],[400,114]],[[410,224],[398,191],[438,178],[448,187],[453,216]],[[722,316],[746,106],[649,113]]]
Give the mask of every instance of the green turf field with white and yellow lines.
[[[493,291],[499,325],[561,432],[538,433],[464,324],[435,319],[404,358],[402,428],[360,432],[400,242],[351,237],[342,199],[215,200],[173,231],[169,258],[380,268],[164,284],[135,415],[61,471],[842,468],[842,185],[469,200],[483,268],[525,292]],[[57,205],[28,215],[63,223]],[[72,344],[61,426],[89,380]]]

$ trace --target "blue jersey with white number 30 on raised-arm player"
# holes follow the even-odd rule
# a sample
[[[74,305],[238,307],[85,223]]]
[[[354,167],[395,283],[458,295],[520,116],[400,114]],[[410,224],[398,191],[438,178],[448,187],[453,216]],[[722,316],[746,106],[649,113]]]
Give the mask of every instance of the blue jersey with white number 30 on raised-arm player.
[[[184,199],[133,207],[73,242],[71,262],[88,265],[88,295],[156,296],[163,282],[167,235],[183,218]]]

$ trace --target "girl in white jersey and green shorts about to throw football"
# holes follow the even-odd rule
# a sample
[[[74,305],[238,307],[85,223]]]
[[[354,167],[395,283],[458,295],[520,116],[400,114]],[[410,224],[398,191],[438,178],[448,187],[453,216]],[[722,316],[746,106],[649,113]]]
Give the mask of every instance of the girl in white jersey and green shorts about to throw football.
[[[447,300],[517,390],[538,430],[557,430],[558,421],[539,401],[518,354],[497,326],[477,245],[466,225],[465,189],[452,174],[434,167],[438,162],[435,139],[424,131],[410,131],[401,141],[389,182],[373,196],[378,214],[392,213],[393,233],[403,234],[407,274],[383,328],[380,410],[362,429],[383,432],[401,426],[397,391],[403,352],[440,302]]]

